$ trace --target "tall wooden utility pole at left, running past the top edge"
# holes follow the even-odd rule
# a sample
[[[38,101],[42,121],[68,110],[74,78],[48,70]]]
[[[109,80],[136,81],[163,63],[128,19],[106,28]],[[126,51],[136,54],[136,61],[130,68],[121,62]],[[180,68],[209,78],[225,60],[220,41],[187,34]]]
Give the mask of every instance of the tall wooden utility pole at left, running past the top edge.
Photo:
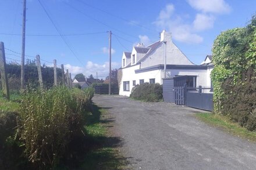
[[[23,0],[23,22],[22,22],[22,64],[20,71],[20,85],[24,89],[25,84],[25,35],[26,35],[26,0]]]

